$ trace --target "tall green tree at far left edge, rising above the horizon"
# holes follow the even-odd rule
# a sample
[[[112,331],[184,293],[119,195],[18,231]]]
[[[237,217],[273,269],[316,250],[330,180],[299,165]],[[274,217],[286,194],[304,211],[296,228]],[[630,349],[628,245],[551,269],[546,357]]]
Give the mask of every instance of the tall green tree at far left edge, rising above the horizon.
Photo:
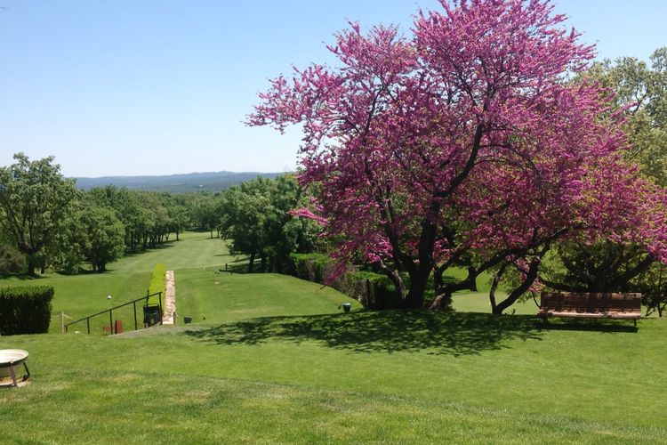
[[[13,158],[12,166],[0,167],[0,223],[26,255],[28,273],[34,275],[40,254],[59,230],[77,191],[52,157],[30,161],[17,153]]]

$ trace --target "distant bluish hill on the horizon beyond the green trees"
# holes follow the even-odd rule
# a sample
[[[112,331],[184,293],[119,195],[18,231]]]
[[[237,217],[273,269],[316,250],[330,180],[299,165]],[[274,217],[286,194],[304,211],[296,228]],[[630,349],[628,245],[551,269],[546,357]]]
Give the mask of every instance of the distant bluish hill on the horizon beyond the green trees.
[[[169,174],[166,176],[104,176],[101,178],[73,178],[76,187],[90,190],[95,187],[115,185],[129,190],[168,191],[170,193],[186,193],[189,191],[206,190],[221,191],[232,185],[255,179],[275,178],[280,173],[259,172],[208,172],[189,174]]]

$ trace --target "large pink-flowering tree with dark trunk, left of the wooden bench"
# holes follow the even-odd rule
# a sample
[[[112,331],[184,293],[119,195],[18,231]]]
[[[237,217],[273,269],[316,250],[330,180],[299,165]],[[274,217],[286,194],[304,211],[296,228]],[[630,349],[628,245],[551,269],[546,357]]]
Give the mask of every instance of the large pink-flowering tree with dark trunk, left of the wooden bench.
[[[592,48],[548,1],[441,3],[410,38],[350,24],[329,47],[339,67],[278,77],[248,119],[302,125],[300,181],[321,190],[302,214],[343,239],[341,263],[361,253],[384,271],[405,307],[422,307],[431,276],[446,307],[494,265],[539,264],[554,240],[615,224],[594,221],[592,185],[623,134],[599,118],[599,87],[570,81]],[[445,285],[461,265],[469,277]]]

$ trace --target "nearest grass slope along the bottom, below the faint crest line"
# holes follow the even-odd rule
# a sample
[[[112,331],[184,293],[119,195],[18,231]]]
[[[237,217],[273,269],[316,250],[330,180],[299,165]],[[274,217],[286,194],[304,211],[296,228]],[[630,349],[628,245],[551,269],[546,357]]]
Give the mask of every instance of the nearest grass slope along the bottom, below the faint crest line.
[[[4,441],[16,443],[651,443],[662,433],[343,388],[117,371],[52,375],[0,400],[12,419]]]

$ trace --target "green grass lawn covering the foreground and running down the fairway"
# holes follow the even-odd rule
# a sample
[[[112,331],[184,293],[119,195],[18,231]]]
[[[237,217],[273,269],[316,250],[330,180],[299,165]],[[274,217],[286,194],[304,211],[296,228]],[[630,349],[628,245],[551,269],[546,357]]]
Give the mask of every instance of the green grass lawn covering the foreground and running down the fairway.
[[[176,270],[191,325],[0,337],[0,348],[30,352],[33,374],[0,391],[4,441],[667,442],[662,319],[637,332],[613,321],[543,329],[520,315],[533,302],[513,316],[478,313],[484,293],[456,295],[454,313],[355,304],[346,314],[350,299],[330,288],[215,273],[232,259],[205,235],[150,260]],[[171,266],[181,261],[172,252],[191,255],[189,267]],[[102,274],[107,287],[148,285],[152,265],[129,261],[140,260]],[[56,287],[54,307],[74,311],[89,277],[100,279],[42,280]]]

